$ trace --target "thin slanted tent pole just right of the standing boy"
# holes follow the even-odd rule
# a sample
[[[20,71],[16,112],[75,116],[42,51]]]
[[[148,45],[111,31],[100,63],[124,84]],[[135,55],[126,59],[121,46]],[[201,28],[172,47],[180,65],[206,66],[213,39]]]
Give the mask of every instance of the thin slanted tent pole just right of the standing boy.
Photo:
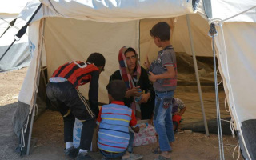
[[[192,51],[192,55],[193,55],[195,76],[197,78],[197,83],[198,83],[198,94],[199,94],[200,102],[201,102],[203,122],[205,125],[206,136],[209,136],[209,130],[208,130],[208,125],[207,125],[207,121],[206,121],[206,114],[205,114],[205,109],[204,109],[203,101],[202,101],[202,90],[201,90],[200,79],[199,79],[199,74],[198,74],[198,64],[197,64],[197,59],[195,57],[193,36],[191,34],[191,28],[190,28],[190,17],[188,14],[186,14],[186,22],[187,22],[187,27],[189,30],[189,35],[190,35],[190,46],[191,46],[191,51]]]

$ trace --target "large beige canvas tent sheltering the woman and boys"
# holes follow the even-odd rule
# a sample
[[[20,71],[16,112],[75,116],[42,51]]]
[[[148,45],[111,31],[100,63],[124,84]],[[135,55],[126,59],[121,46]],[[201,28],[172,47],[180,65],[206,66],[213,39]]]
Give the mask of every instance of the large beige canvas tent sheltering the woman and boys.
[[[171,39],[174,50],[192,54],[191,36],[186,25],[187,18],[190,18],[194,50],[200,56],[213,55],[211,38],[207,35],[210,28],[208,22],[216,24],[218,36],[214,38],[214,46],[234,129],[239,135],[242,155],[248,159],[256,158],[256,147],[252,145],[256,144],[255,9],[230,18],[256,6],[254,0],[242,3],[238,0],[214,0],[211,5],[210,1],[200,2],[197,14],[192,10],[196,5],[191,0],[41,2],[42,8],[29,28],[29,41],[35,46],[34,57],[23,82],[14,116],[14,131],[18,138],[23,140],[26,127],[32,129],[32,125],[27,125],[33,124],[30,123],[33,120],[31,115],[34,115],[43,66],[51,75],[64,62],[86,59],[95,51],[106,55],[107,67],[100,77],[99,102],[108,102],[105,86],[110,74],[118,70],[118,50],[122,46],[134,46],[142,62],[146,54],[150,60],[154,59],[158,48],[154,46],[149,30],[156,22],[164,20],[170,23],[174,31]],[[21,18],[27,22],[38,5],[39,2],[30,2],[22,11]],[[86,95],[86,92],[83,94]],[[23,147],[30,147],[26,137],[29,131],[26,130],[25,143],[21,141]]]

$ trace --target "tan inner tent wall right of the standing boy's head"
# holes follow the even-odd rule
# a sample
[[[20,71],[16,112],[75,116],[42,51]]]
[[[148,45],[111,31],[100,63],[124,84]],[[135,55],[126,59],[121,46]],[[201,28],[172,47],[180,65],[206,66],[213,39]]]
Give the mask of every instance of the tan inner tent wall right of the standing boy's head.
[[[195,54],[197,56],[212,57],[211,38],[207,35],[210,25],[199,14],[190,14],[189,17]],[[186,52],[192,55],[186,15],[177,18],[172,43],[176,52]]]

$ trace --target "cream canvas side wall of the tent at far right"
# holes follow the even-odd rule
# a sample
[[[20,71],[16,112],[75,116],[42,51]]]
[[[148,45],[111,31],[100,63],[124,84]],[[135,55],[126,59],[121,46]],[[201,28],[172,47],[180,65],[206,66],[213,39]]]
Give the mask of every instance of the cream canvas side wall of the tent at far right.
[[[237,122],[256,118],[256,24],[249,22],[224,23],[226,52],[223,46],[222,31],[218,27],[216,45],[218,58],[225,78],[226,97],[230,110]],[[249,111],[250,110],[250,111]]]

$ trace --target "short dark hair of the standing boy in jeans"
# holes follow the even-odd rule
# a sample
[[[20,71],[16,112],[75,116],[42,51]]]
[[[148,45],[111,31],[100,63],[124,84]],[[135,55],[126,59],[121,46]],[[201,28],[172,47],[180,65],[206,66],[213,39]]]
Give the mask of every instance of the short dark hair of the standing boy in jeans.
[[[170,40],[170,26],[166,22],[158,22],[150,30],[150,36],[158,37],[161,41]]]

